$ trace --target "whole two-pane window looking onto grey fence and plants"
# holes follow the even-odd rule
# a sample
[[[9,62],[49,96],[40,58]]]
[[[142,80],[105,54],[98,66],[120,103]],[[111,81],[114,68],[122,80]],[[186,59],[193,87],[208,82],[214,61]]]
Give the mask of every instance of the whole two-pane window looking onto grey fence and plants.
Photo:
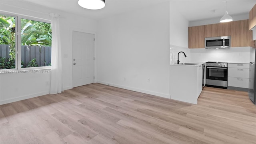
[[[26,70],[51,66],[50,23],[0,15],[0,29],[0,69]]]

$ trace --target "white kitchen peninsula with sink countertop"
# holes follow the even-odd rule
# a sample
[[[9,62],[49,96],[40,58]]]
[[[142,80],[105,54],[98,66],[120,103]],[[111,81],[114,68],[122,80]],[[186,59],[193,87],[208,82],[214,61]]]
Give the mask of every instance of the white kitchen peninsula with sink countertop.
[[[170,64],[170,98],[197,104],[202,92],[202,64]]]

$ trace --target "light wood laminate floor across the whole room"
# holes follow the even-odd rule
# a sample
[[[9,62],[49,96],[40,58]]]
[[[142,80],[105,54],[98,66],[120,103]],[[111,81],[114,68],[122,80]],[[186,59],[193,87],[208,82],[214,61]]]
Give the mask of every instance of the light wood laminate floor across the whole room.
[[[0,106],[0,144],[256,144],[247,92],[188,104],[102,84]]]

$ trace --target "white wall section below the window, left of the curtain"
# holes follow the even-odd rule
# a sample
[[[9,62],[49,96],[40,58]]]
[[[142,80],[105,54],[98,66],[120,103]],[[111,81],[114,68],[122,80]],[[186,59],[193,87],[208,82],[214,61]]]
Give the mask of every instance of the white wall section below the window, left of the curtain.
[[[50,74],[18,73],[0,75],[0,104],[42,96],[50,92]]]

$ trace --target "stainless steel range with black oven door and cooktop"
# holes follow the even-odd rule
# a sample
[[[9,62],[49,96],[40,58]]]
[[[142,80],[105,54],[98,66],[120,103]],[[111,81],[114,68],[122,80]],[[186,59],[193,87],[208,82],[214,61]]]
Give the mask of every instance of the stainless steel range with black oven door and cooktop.
[[[206,86],[228,88],[227,62],[206,62]]]

